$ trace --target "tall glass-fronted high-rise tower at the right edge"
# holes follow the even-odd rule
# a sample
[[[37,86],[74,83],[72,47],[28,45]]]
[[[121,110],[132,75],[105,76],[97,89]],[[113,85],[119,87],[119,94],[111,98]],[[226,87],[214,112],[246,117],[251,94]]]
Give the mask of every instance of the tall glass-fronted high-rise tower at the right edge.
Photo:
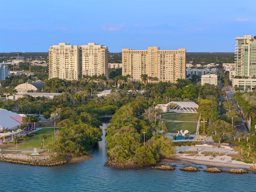
[[[256,76],[256,38],[250,35],[236,37],[235,63],[237,76]]]

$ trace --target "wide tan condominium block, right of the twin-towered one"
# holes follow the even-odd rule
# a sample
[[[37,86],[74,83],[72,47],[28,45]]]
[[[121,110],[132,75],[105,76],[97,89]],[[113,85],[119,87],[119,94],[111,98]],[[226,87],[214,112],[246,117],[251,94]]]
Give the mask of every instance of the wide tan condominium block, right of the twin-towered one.
[[[148,50],[122,49],[122,75],[130,75],[132,81],[141,81],[147,74],[154,81],[176,82],[186,78],[186,49]]]

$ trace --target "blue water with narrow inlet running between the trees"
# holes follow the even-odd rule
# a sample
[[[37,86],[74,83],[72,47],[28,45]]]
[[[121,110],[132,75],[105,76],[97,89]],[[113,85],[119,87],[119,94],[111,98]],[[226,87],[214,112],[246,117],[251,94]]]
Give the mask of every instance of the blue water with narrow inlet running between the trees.
[[[107,124],[103,125],[103,129]],[[92,152],[93,159],[75,164],[39,167],[0,162],[0,192],[255,192],[256,174],[182,172],[176,170],[105,167],[105,134]]]

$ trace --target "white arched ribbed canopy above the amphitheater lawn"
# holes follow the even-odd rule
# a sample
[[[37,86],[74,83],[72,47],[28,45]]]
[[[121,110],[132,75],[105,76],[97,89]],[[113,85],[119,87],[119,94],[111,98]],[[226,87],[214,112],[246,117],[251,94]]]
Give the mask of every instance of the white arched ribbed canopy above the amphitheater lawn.
[[[198,104],[194,102],[172,101],[168,103],[169,110],[183,110],[185,113],[197,113]]]

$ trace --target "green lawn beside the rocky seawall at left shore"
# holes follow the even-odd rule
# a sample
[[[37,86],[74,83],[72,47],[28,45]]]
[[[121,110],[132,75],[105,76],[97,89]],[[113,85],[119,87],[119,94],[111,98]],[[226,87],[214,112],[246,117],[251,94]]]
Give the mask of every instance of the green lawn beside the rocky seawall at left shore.
[[[58,131],[58,128],[55,128],[55,131]],[[54,128],[43,128],[34,133],[28,140],[18,142],[18,150],[34,150],[34,148],[40,149],[42,139],[41,137],[43,134],[47,136],[44,140],[44,148],[47,149],[47,144],[52,141],[52,137],[54,135]],[[16,145],[10,146],[8,149],[16,149]]]

